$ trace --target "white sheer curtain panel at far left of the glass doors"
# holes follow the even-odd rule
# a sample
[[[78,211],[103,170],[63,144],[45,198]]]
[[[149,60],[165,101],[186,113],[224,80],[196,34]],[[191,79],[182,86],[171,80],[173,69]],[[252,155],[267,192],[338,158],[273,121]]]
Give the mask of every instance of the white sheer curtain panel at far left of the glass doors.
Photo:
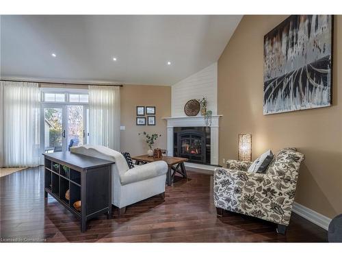
[[[1,82],[3,167],[39,165],[40,89],[37,83]],[[1,112],[0,112],[1,118]],[[0,130],[1,131],[1,130]]]

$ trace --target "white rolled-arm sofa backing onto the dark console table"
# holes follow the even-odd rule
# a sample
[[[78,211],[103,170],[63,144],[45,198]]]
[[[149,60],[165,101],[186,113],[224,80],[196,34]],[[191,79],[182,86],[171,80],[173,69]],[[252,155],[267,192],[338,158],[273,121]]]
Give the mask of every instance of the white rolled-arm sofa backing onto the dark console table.
[[[120,152],[101,145],[71,147],[70,151],[115,162],[111,165],[111,203],[119,208],[119,216],[126,211],[126,206],[137,201],[154,195],[164,196],[168,164],[163,160],[129,169]]]

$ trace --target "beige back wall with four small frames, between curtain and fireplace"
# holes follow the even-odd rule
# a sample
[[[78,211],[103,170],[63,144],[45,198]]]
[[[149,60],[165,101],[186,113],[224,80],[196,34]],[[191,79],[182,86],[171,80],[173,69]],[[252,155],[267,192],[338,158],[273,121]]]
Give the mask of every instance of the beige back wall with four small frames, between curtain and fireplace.
[[[155,143],[155,148],[166,149],[166,121],[161,118],[171,115],[170,86],[124,85],[120,88],[120,106],[121,125],[126,127],[126,130],[120,132],[121,151],[128,151],[131,156],[146,154],[148,148],[144,137],[138,136],[138,133],[144,131],[148,134],[161,134],[161,138],[158,138]],[[155,106],[156,125],[135,125],[136,106]],[[145,117],[147,120],[147,115]]]

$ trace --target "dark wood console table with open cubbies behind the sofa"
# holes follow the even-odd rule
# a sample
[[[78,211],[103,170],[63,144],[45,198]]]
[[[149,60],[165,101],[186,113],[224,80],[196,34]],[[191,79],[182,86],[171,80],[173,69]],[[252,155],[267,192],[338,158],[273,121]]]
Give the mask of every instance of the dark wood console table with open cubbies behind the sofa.
[[[86,231],[88,219],[106,214],[111,219],[111,162],[72,154],[57,152],[43,154],[44,195],[51,195],[66,209],[81,220],[81,231]],[[69,190],[69,199],[66,191]],[[74,203],[81,201],[81,211]]]

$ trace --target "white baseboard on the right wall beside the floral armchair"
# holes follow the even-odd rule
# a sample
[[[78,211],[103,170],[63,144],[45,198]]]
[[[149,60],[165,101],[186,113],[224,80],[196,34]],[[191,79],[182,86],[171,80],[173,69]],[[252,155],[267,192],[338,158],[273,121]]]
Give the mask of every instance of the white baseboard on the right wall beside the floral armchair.
[[[302,204],[293,202],[292,211],[300,215],[304,219],[307,219],[308,221],[311,221],[312,223],[318,225],[319,227],[328,230],[331,219],[324,215],[321,215],[318,212],[315,212],[315,210],[311,210],[305,206],[302,206]]]

